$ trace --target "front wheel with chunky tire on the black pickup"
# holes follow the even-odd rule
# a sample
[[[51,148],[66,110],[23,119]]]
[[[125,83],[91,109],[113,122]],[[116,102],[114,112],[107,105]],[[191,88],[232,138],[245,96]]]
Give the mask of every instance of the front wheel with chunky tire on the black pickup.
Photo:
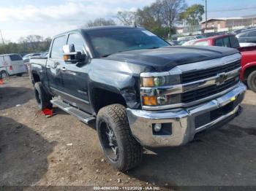
[[[108,162],[118,171],[135,168],[143,156],[143,149],[132,136],[125,107],[105,106],[97,115],[97,133]]]

